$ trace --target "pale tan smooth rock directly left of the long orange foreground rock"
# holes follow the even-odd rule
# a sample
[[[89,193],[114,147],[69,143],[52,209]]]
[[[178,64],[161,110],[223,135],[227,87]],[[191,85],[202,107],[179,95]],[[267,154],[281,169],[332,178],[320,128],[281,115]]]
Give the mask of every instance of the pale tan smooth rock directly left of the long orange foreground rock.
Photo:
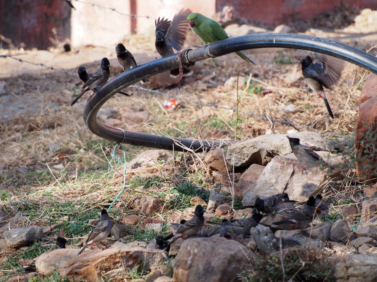
[[[59,272],[64,264],[75,258],[79,249],[56,249],[44,252],[35,258],[35,268],[42,274]]]

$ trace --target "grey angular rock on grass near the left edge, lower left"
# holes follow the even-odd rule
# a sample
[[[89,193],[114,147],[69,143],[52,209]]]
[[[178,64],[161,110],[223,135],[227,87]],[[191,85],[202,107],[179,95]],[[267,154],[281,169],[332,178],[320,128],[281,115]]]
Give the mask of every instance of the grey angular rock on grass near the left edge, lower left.
[[[38,225],[28,227],[18,227],[3,233],[3,237],[9,247],[20,249],[38,241],[43,237],[43,229]]]

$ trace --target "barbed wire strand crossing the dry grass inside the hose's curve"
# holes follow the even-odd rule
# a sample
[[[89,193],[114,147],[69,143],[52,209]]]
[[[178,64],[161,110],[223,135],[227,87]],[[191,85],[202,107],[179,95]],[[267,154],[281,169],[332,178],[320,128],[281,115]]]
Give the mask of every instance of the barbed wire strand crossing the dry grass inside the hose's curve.
[[[181,96],[175,96],[175,95],[168,95],[168,94],[165,94],[161,91],[158,91],[158,90],[153,90],[153,89],[146,89],[146,88],[143,88],[143,87],[140,87],[138,85],[130,85],[128,86],[129,88],[136,88],[136,89],[140,89],[140,90],[144,90],[144,91],[149,91],[149,92],[152,92],[152,93],[156,93],[156,94],[159,94],[161,96],[165,96],[165,97],[169,97],[169,98],[176,98],[176,99],[180,99],[180,100],[185,100],[187,102],[191,102],[191,103],[195,103],[195,104],[199,104],[201,106],[208,106],[208,107],[213,107],[213,108],[218,108],[218,109],[226,109],[226,110],[231,110],[233,112],[236,112],[237,109],[236,108],[232,108],[232,107],[228,107],[228,106],[219,106],[217,104],[205,104],[199,100],[191,100],[191,99],[188,99],[188,98],[185,98],[185,97],[181,97]],[[238,110],[238,112],[242,113],[242,114],[246,114],[246,115],[250,115],[252,117],[258,117],[258,118],[263,118],[264,120],[269,120],[269,121],[276,121],[276,122],[280,122],[280,123],[285,123],[285,124],[288,124],[290,126],[296,126],[296,127],[300,127],[297,123],[294,123],[293,121],[287,121],[287,120],[278,120],[276,118],[271,118],[271,117],[265,117],[264,115],[258,115],[258,114],[254,114],[253,112],[245,112],[245,111],[241,111],[241,110]]]

